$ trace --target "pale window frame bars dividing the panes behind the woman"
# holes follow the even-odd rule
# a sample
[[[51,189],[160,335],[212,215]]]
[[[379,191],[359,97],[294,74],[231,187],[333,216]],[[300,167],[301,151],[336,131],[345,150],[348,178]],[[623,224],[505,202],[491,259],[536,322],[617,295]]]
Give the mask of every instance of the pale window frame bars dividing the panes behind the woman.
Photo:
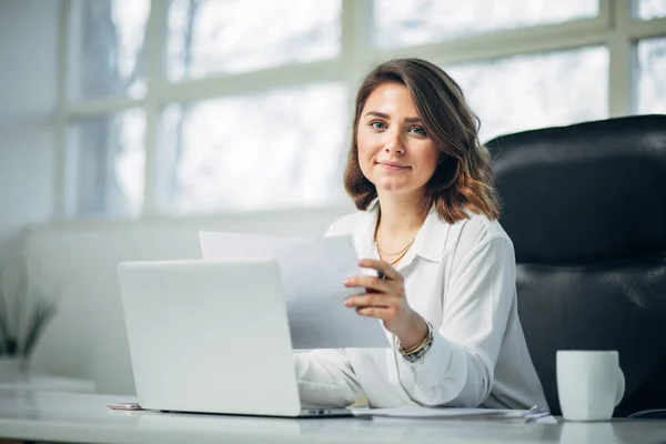
[[[287,64],[239,74],[212,74],[202,79],[185,79],[171,83],[164,69],[169,2],[151,0],[145,33],[147,92],[141,99],[108,97],[70,101],[69,71],[74,67],[70,52],[77,39],[77,6],[80,0],[64,0],[61,11],[58,67],[58,108],[54,165],[54,214],[62,220],[112,220],[121,216],[81,216],[72,214],[68,195],[68,125],[81,118],[109,114],[131,108],[145,113],[145,167],[143,205],[139,219],[173,219],[159,208],[158,168],[159,121],[161,110],[173,101],[191,102],[239,93],[256,93],[303,83],[333,81],[347,88],[347,109],[353,110],[354,91],[367,69],[377,61],[396,57],[420,57],[440,65],[497,59],[516,54],[562,51],[587,46],[608,48],[608,114],[609,118],[632,114],[634,110],[634,48],[638,40],[666,36],[666,18],[638,20],[632,0],[599,0],[599,13],[591,19],[565,23],[518,28],[481,36],[420,44],[380,49],[372,44],[372,0],[341,0],[341,52],[337,58],[310,63]],[[350,111],[351,114],[351,111]],[[349,142],[349,134],[345,141]],[[324,209],[326,211],[326,209]],[[331,210],[331,208],[327,208]],[[220,210],[221,214],[236,214]],[[210,213],[204,215],[211,216]],[[181,218],[175,215],[175,218]],[[183,218],[192,218],[183,215]]]

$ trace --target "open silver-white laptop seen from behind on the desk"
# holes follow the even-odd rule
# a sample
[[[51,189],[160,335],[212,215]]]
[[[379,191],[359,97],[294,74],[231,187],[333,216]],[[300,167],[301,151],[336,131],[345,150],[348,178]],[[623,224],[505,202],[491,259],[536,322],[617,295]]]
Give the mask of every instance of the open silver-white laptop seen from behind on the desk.
[[[124,262],[118,272],[142,408],[351,415],[301,405],[275,260]]]

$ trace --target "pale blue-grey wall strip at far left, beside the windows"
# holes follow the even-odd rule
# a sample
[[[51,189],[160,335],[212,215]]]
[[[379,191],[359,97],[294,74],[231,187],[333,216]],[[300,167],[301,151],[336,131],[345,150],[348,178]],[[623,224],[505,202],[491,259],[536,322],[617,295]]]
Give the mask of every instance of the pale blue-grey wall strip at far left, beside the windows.
[[[0,256],[52,212],[60,3],[0,1]]]

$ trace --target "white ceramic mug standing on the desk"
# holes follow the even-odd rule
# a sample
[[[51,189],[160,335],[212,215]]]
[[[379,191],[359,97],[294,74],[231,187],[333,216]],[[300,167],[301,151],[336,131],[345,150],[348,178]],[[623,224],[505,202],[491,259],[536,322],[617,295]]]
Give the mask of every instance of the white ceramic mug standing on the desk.
[[[624,396],[616,351],[558,351],[557,393],[567,421],[608,421]]]

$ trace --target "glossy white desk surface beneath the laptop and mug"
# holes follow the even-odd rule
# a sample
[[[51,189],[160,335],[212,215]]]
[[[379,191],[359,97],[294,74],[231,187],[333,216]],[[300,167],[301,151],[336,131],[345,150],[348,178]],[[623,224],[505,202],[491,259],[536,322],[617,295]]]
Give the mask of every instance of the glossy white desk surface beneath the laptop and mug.
[[[122,396],[0,389],[0,437],[70,443],[663,443],[666,421],[524,424],[488,420],[327,418],[110,411]]]

